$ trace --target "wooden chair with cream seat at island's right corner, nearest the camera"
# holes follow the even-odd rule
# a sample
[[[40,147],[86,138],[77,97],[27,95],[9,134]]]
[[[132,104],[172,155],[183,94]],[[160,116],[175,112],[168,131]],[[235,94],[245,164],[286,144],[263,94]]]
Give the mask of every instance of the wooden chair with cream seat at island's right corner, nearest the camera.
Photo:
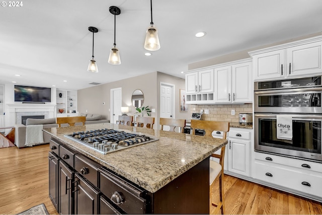
[[[204,129],[205,136],[211,136],[213,131],[222,131],[223,139],[226,139],[227,132],[229,131],[229,122],[220,122],[220,121],[207,121],[207,120],[191,120],[192,134],[195,134],[195,129]],[[209,160],[209,197],[211,205],[217,207],[215,214],[221,210],[221,214],[224,214],[224,187],[223,187],[223,165],[224,165],[224,155],[225,155],[225,146],[221,148],[220,155],[212,154],[211,157],[218,158],[219,163],[213,160]],[[214,182],[219,181],[219,202],[212,202],[212,187]]]

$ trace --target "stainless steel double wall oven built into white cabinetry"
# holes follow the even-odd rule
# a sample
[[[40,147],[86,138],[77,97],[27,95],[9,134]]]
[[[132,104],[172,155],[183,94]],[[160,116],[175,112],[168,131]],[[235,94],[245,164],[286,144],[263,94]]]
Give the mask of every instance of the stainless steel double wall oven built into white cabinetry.
[[[255,151],[322,162],[321,76],[255,82]],[[277,138],[277,116],[292,116],[292,139]]]

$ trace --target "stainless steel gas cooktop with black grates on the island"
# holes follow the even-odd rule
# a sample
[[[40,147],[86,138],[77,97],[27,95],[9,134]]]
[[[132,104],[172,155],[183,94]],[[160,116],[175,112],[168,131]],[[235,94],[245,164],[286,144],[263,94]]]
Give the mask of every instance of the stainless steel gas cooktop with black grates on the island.
[[[128,149],[157,140],[140,133],[129,133],[107,128],[74,132],[64,136],[102,154]]]

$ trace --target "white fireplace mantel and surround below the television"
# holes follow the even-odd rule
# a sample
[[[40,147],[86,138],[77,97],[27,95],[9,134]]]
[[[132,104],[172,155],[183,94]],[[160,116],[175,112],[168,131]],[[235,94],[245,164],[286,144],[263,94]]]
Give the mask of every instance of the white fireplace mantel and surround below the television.
[[[45,119],[55,117],[56,104],[34,104],[17,103],[7,104],[6,123],[7,126],[22,124],[21,116],[44,115]]]

